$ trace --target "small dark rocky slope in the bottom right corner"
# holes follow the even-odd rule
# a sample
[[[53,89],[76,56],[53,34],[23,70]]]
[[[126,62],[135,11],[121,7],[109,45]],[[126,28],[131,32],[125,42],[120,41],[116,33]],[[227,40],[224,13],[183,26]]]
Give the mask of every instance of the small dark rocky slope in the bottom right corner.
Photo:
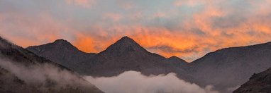
[[[271,92],[271,68],[253,74],[248,82],[241,85],[233,93],[270,93]]]

